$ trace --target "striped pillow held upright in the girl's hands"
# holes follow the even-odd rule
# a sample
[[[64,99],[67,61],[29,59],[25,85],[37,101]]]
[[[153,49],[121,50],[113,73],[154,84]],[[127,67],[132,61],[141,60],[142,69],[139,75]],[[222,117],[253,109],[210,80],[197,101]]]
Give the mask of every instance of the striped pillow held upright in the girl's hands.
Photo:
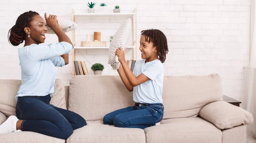
[[[119,29],[116,31],[116,34],[113,36],[113,39],[110,43],[108,49],[108,64],[111,64],[113,70],[117,70],[120,66],[118,61],[118,56],[116,56],[116,50],[122,48],[125,50],[127,48],[128,38],[131,33],[131,19],[128,18]]]

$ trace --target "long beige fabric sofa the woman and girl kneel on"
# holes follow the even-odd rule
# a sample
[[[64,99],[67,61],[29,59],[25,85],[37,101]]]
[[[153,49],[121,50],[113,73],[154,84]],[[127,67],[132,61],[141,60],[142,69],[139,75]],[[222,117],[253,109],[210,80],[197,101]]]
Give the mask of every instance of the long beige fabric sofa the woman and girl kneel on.
[[[0,124],[15,115],[20,80],[0,80]],[[103,117],[133,106],[132,93],[119,76],[74,76],[70,86],[55,81],[51,104],[77,112],[87,126],[61,140],[35,132],[0,134],[0,143],[246,143],[246,124],[252,115],[222,101],[221,77],[164,76],[164,117],[146,129],[103,125]]]

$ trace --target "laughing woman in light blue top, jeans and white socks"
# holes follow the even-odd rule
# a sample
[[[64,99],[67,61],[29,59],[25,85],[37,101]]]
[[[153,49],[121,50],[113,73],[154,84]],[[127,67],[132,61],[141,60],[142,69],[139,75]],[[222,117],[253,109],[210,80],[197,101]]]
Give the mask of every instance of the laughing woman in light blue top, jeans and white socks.
[[[73,45],[58,25],[57,16],[45,13],[47,25],[58,36],[59,43],[43,45],[47,28],[44,19],[34,11],[21,14],[10,29],[10,44],[19,48],[22,84],[16,95],[16,116],[10,116],[1,126],[0,133],[21,131],[37,132],[67,139],[73,130],[86,125],[80,115],[49,104],[54,92],[55,66],[68,64],[68,53]],[[39,45],[40,44],[40,45]]]

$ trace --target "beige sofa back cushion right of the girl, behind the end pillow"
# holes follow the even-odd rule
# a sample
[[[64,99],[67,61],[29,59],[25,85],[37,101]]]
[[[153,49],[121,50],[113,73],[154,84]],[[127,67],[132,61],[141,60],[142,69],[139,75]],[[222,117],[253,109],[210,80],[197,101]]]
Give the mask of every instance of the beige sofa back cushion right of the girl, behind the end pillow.
[[[196,117],[204,105],[223,100],[221,77],[164,76],[163,119]]]

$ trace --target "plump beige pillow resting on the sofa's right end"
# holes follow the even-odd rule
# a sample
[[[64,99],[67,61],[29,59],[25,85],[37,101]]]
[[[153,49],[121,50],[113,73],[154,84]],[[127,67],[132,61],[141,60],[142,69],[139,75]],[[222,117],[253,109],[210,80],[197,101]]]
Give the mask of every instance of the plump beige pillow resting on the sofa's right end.
[[[253,123],[253,116],[250,112],[226,101],[216,101],[205,105],[200,110],[199,116],[213,123],[218,129],[229,129],[241,124]]]

